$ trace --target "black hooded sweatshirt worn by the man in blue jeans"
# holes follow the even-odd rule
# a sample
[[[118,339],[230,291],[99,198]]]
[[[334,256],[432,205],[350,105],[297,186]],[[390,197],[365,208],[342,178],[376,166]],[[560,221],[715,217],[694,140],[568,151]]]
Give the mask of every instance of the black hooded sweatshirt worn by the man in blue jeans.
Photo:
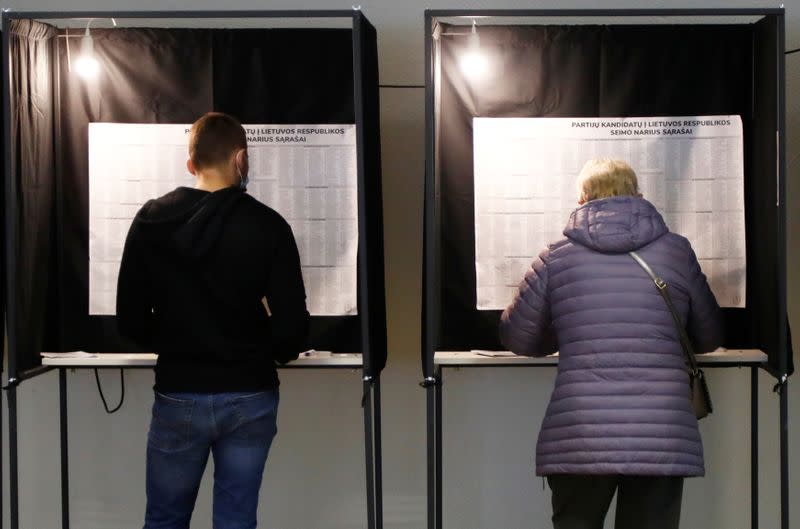
[[[306,348],[305,299],[283,217],[237,187],[179,187],[131,224],[117,326],[158,353],[158,391],[261,391]]]

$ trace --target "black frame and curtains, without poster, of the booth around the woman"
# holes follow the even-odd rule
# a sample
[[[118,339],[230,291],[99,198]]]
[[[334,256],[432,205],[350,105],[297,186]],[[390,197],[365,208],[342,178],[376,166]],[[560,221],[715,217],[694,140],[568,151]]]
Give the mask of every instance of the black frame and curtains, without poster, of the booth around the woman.
[[[783,8],[425,12],[426,166],[420,385],[427,393],[428,529],[444,528],[443,368],[557,365],[554,359],[528,362],[458,358],[475,349],[503,349],[496,331],[500,311],[476,309],[472,118],[709,114],[742,115],[745,134],[748,305],[745,309],[725,309],[724,345],[728,349],[761,350],[767,360],[747,360],[745,355],[727,363],[701,362],[701,365],[750,368],[753,528],[758,527],[759,520],[758,371],[764,369],[775,377],[780,406],[781,528],[789,527],[787,383],[793,362],[786,310],[784,25]],[[611,34],[622,45],[601,52],[598,43],[602,35],[617,27],[621,29],[612,30],[616,33]],[[534,31],[541,33],[531,33]],[[465,74],[457,72],[458,53],[470,45],[472,32],[480,37],[477,45],[481,52],[488,43],[494,53],[491,57],[505,61],[502,75],[492,76],[491,88],[476,88],[465,79]],[[709,45],[709,38],[703,40],[704,33],[713,35],[710,38],[722,37],[721,44]],[[584,35],[589,38],[580,42]],[[652,36],[649,42],[648,36]],[[565,48],[553,51],[560,37],[567,42],[565,47],[572,46],[571,51]],[[681,42],[682,38],[686,42]],[[535,65],[530,57],[522,57],[524,52],[520,51],[534,39],[538,40],[531,46],[539,53]],[[656,42],[659,39],[663,39],[660,45]],[[471,45],[475,46],[474,40]],[[505,50],[500,50],[502,46]],[[606,55],[594,58],[601,53]],[[653,56],[648,57],[651,53]],[[740,76],[743,85],[726,83],[731,77],[716,79],[719,69],[709,68],[708,64],[712,58],[719,58],[723,65],[737,70],[735,76]],[[567,59],[572,63],[568,64]],[[630,64],[640,70],[627,71],[625,68]],[[670,75],[665,71],[674,74],[670,68],[681,64],[694,64],[686,78],[664,77]],[[569,71],[560,77],[555,75],[562,68]],[[586,74],[587,71],[590,73]],[[634,79],[637,73],[642,75]],[[660,80],[665,86],[655,84],[644,89],[637,85],[641,79]],[[589,86],[583,92],[582,81]],[[681,83],[687,86],[681,87]],[[717,92],[728,90],[735,95],[730,95],[724,103],[709,103],[714,96],[709,95],[711,89],[704,83],[716,86]],[[581,88],[576,90],[576,86]],[[698,90],[698,86],[703,89]],[[687,94],[696,97],[696,101],[687,102]],[[647,100],[648,97],[652,99]],[[754,233],[760,237],[752,237]],[[447,355],[451,355],[449,359]]]

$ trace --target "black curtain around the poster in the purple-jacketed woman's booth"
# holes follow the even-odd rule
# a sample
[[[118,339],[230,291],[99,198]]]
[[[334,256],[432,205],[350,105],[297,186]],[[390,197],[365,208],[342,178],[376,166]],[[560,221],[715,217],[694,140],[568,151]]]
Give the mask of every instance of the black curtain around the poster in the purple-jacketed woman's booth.
[[[473,117],[738,114],[744,129],[747,306],[725,309],[725,346],[763,349],[777,362],[774,132],[765,132],[775,130],[769,120],[775,119],[776,74],[767,65],[754,79],[752,25],[481,26],[481,52],[493,72],[478,81],[465,78],[458,63],[469,39],[448,36],[462,28],[441,29],[437,350],[502,348],[500,312],[475,308]],[[753,106],[759,98],[760,113]],[[772,165],[765,158],[768,141]]]

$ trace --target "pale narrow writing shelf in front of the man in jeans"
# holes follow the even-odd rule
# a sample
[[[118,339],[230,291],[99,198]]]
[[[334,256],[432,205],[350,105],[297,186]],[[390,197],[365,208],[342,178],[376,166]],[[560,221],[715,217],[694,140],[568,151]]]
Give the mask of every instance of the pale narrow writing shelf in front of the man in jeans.
[[[43,353],[57,355],[58,353]],[[153,367],[156,365],[158,355],[155,353],[91,353],[86,356],[62,357],[46,356],[42,358],[42,365],[54,368],[105,368],[105,367]],[[360,369],[363,365],[362,355],[357,353],[320,354],[318,352],[303,353],[300,358],[286,365],[278,366],[279,369],[300,368],[340,368]]]

